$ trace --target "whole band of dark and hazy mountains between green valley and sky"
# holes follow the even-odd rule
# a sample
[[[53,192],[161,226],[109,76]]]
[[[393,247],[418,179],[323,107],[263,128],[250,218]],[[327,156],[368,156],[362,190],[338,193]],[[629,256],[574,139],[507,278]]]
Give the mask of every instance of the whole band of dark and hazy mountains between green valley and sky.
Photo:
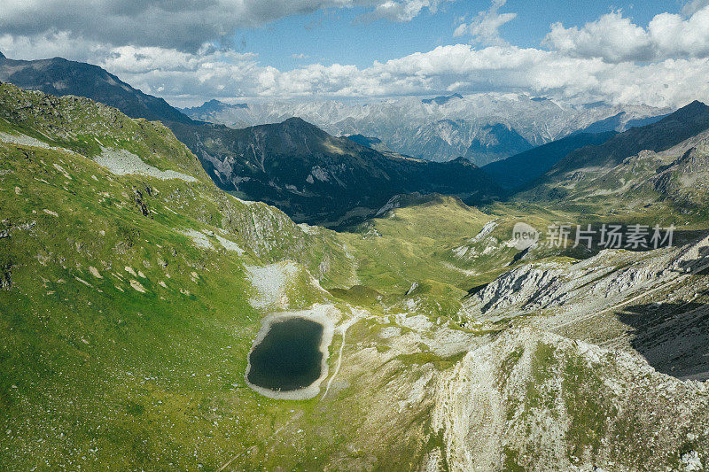
[[[354,123],[353,116],[348,116],[353,112],[359,113],[357,122],[381,118],[386,112],[391,112],[386,116],[409,121],[422,114],[430,118],[458,113],[456,116],[464,117],[438,120],[418,129],[419,137],[428,136],[425,146],[431,152],[427,154],[429,157],[440,154],[461,133],[469,137],[485,136],[482,141],[466,142],[464,158],[438,163],[389,151],[387,143],[373,135],[338,138],[300,118],[239,129],[193,120],[164,100],[133,89],[100,67],[63,58],[38,61],[0,58],[0,81],[13,81],[25,89],[60,96],[90,97],[115,106],[132,118],[160,120],[198,156],[222,189],[276,205],[295,221],[330,226],[362,221],[377,213],[391,197],[410,192],[438,192],[462,197],[468,203],[482,203],[501,196],[504,191],[500,185],[509,193],[534,184],[534,190],[521,198],[557,201],[559,196],[573,194],[587,167],[610,168],[643,150],[665,151],[706,128],[705,105],[698,103],[662,115],[650,107],[626,107],[627,110],[604,104],[573,107],[544,98],[510,94],[472,97],[454,94],[424,101],[412,101],[409,97],[366,106],[285,103],[281,108],[265,102],[228,105],[213,100],[188,110],[206,113],[206,118],[214,118],[210,113],[238,112],[250,120],[261,113],[261,120],[267,121],[264,113],[282,118],[289,114],[287,110],[306,116],[316,112],[318,120],[325,117],[330,120],[333,113],[339,118],[346,117],[327,128]],[[401,112],[404,104],[411,105],[412,112],[408,115]],[[485,112],[481,114],[480,110]],[[557,135],[570,135],[531,148],[530,141],[514,128],[501,123],[480,125],[490,121],[479,118],[483,114],[500,116],[503,110],[508,122],[512,117],[520,122],[536,117],[531,120],[532,125],[527,125],[533,128],[535,120],[548,118],[544,129],[549,138],[553,129]],[[478,125],[471,125],[472,121],[465,118],[471,113],[478,116]],[[607,118],[597,120],[609,113]],[[387,120],[377,123],[385,126]],[[388,123],[386,126],[394,126],[391,119]],[[634,128],[618,134],[619,129],[626,127]],[[401,132],[401,128],[396,128],[395,133]],[[544,139],[538,135],[532,141]],[[497,159],[508,152],[514,155],[488,164],[484,171],[466,162],[487,159],[480,158],[483,155]]]

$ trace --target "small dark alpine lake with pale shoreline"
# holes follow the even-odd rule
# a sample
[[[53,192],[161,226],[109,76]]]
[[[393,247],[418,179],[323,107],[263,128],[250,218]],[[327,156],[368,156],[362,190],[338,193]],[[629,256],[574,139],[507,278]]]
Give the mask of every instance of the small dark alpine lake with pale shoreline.
[[[274,322],[249,355],[248,381],[274,391],[307,387],[321,374],[322,338],[323,325],[316,321],[290,318]]]

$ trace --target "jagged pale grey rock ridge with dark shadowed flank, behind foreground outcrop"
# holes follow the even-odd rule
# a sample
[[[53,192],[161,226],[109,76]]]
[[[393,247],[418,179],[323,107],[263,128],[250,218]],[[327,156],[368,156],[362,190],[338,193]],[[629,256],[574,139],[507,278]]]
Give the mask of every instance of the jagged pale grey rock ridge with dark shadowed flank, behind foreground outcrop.
[[[709,237],[575,264],[537,262],[471,294],[464,312],[489,329],[503,320],[534,326],[630,352],[678,378],[709,379],[707,269]]]

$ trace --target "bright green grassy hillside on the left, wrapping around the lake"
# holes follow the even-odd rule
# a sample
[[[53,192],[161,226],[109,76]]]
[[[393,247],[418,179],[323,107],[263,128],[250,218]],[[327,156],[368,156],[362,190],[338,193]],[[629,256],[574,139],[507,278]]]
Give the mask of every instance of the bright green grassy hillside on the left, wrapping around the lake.
[[[425,430],[430,405],[397,414],[388,389],[406,392],[431,363],[450,362],[413,342],[405,348],[413,357],[401,357],[404,348],[379,337],[393,326],[386,317],[354,322],[347,347],[336,334],[331,352],[342,346],[361,360],[340,371],[328,398],[272,400],[245,384],[261,318],[284,309],[254,307],[253,267],[294,261],[279,303],[289,310],[326,303],[347,321],[348,300],[319,290],[310,274],[347,291],[361,251],[376,246],[230,197],[159,124],[8,85],[0,104],[4,468],[217,470],[230,460],[230,468],[247,470],[416,468],[434,447]],[[196,182],[112,174],[93,160],[103,148]],[[461,209],[471,224],[484,220]],[[401,231],[388,244],[410,236],[410,228]],[[439,236],[417,244],[428,251]],[[399,264],[421,263],[425,251]],[[458,298],[454,290],[454,307]],[[334,371],[337,357],[329,362]],[[356,382],[368,365],[377,375]]]

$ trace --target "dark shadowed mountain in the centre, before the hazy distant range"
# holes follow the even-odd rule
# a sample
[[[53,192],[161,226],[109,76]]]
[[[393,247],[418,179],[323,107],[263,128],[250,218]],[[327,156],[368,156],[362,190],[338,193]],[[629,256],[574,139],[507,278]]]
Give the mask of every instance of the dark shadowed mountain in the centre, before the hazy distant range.
[[[438,163],[382,153],[300,118],[242,129],[177,123],[172,129],[222,189],[276,205],[298,222],[361,221],[401,193],[437,192],[471,202],[500,195],[466,159]]]

